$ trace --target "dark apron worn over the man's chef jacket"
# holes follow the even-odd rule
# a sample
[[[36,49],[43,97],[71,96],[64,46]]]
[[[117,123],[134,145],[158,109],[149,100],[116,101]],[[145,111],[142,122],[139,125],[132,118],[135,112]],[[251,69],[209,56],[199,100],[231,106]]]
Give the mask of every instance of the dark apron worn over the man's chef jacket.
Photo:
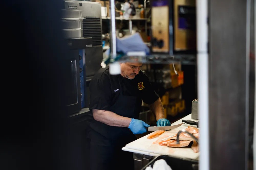
[[[121,92],[116,103],[110,107],[110,111],[120,116],[138,119],[141,98],[124,95],[124,81],[121,78],[118,78],[118,80]],[[94,119],[90,122],[90,127],[91,170],[134,169],[132,152],[122,151],[122,147],[127,143],[136,140],[135,135],[129,128],[109,126]]]

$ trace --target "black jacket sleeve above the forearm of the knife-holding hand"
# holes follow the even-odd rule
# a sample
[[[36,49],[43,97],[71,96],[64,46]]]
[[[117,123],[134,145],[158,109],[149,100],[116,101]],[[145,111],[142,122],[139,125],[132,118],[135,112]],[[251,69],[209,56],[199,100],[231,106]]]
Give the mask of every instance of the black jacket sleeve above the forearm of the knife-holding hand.
[[[95,75],[90,85],[89,109],[109,110],[111,101],[111,84],[108,74]]]

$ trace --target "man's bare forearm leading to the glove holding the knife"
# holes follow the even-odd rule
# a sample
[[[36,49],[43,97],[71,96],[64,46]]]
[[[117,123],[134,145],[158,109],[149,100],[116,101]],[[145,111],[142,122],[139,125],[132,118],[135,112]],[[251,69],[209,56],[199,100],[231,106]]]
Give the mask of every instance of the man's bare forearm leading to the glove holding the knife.
[[[131,118],[123,117],[111,111],[93,109],[93,118],[110,126],[129,127]]]

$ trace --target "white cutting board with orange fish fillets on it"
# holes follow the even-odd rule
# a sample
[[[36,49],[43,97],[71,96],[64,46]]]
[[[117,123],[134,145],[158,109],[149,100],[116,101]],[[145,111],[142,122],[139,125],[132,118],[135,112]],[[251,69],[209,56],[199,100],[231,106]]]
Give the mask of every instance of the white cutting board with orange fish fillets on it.
[[[184,119],[184,118],[183,118]],[[187,118],[188,120],[189,118]],[[190,120],[194,120],[191,119]],[[179,122],[173,123],[173,125],[177,125]],[[167,147],[166,145],[159,145],[158,142],[161,141],[161,139],[174,135],[181,129],[185,129],[188,126],[193,126],[193,125],[188,125],[188,124],[183,124],[180,127],[172,130],[167,130],[164,132],[162,135],[160,135],[157,138],[154,139],[147,139],[147,137],[151,134],[148,134],[144,137],[141,137],[131,143],[126,144],[126,148],[129,149],[134,149],[138,151],[145,151],[145,152],[150,152],[150,153],[155,153],[155,154],[160,154],[160,155],[171,155],[171,156],[177,156],[181,158],[189,158],[189,159],[195,159],[199,160],[199,153],[195,153],[191,148],[184,147],[184,148],[171,148]],[[196,126],[193,126],[196,127]],[[153,131],[152,131],[153,133]],[[157,143],[155,143],[157,142]],[[134,152],[134,151],[133,151]]]

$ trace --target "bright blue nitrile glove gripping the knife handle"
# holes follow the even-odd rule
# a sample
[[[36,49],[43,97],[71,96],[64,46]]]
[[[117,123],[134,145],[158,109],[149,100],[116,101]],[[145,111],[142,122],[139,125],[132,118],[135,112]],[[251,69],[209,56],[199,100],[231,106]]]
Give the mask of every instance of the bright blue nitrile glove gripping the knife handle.
[[[141,134],[145,133],[147,130],[145,127],[150,127],[150,125],[146,124],[142,120],[134,119],[132,118],[132,121],[130,122],[129,129],[133,132],[133,134]]]

